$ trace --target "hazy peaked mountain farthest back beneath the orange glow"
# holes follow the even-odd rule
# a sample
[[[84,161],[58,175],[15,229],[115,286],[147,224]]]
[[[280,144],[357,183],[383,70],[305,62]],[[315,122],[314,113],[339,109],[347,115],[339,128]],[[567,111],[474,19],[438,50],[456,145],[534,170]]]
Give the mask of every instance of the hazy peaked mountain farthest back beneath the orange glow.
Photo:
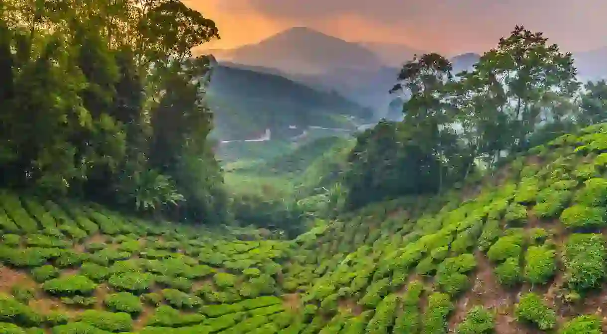
[[[208,50],[220,63],[282,75],[370,107],[375,118],[385,115],[399,67],[424,53],[404,44],[350,43],[313,29],[294,27],[258,44],[232,50]],[[478,55],[453,58],[455,69],[469,69]]]

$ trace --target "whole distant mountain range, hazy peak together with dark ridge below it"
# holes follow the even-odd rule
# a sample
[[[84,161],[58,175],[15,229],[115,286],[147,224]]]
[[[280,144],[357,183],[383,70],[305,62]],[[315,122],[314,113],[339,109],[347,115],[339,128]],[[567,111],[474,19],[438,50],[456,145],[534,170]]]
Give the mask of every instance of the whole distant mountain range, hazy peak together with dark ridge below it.
[[[333,127],[335,115],[363,117],[368,112],[364,107],[373,110],[375,120],[388,112],[393,118],[398,111],[393,110],[394,103],[388,107],[394,100],[388,90],[402,64],[427,52],[404,44],[348,42],[307,27],[236,49],[206,50],[222,65],[211,84],[219,107],[217,126],[229,134],[229,127],[242,121],[234,115],[244,113],[245,123],[259,125],[255,133],[263,132],[262,124],[268,122]],[[453,56],[453,71],[472,69],[479,57],[476,53]],[[580,78],[607,77],[607,47],[574,57]],[[226,109],[231,110],[227,115]],[[245,136],[239,130],[232,132],[229,135]]]

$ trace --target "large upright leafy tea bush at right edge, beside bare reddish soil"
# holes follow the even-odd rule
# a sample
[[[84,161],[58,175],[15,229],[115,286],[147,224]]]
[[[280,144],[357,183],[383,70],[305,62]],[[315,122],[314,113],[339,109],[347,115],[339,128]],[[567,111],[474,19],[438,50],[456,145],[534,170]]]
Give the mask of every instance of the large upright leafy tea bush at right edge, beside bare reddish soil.
[[[565,276],[572,290],[598,287],[605,278],[605,240],[601,234],[572,234],[565,246]]]

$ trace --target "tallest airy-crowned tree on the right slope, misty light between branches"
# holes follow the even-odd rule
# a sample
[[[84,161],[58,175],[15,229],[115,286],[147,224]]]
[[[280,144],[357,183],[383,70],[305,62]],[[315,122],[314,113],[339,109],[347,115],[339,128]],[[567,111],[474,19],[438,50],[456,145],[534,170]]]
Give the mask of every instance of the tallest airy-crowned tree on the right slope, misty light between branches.
[[[512,141],[501,149],[519,151],[529,136],[546,123],[570,117],[575,109],[559,108],[571,101],[579,88],[571,53],[548,44],[541,32],[516,26],[497,49],[481,56],[473,71],[492,93],[492,102],[507,117]]]

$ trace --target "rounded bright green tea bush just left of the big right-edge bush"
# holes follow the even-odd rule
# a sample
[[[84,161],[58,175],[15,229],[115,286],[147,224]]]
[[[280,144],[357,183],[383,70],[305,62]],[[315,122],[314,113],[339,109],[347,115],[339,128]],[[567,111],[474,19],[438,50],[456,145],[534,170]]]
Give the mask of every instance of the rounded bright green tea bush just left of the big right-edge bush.
[[[546,284],[554,275],[557,266],[555,251],[548,246],[532,246],[527,249],[524,275],[532,284]]]

